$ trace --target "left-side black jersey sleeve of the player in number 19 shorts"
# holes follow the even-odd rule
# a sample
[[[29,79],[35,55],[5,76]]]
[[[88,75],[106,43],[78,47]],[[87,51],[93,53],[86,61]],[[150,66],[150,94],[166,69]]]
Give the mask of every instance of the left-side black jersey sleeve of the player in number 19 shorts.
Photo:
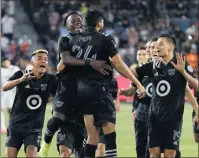
[[[142,79],[144,76],[151,77],[153,74],[153,62],[137,67],[135,68],[135,71],[137,72],[139,79]]]

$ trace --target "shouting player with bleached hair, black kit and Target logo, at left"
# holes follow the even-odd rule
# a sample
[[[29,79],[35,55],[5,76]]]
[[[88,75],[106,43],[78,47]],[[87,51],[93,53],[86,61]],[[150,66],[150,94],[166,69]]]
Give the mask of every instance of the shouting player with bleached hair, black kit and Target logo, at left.
[[[31,63],[32,71],[17,71],[3,85],[3,91],[17,88],[6,138],[7,157],[17,157],[22,144],[26,157],[37,156],[48,98],[56,92],[56,77],[46,73],[48,52],[34,51]]]

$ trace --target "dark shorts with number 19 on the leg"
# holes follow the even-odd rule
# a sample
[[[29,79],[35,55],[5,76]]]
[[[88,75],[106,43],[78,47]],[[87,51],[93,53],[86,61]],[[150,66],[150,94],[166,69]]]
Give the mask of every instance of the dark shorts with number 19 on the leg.
[[[182,121],[161,123],[155,114],[149,119],[149,148],[179,149]]]

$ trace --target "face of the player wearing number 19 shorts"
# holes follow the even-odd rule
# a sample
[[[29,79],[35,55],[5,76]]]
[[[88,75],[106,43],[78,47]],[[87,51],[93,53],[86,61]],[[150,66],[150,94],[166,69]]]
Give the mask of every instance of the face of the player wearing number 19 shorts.
[[[157,53],[159,57],[168,56],[169,51],[171,50],[171,44],[164,37],[160,37],[157,40]]]

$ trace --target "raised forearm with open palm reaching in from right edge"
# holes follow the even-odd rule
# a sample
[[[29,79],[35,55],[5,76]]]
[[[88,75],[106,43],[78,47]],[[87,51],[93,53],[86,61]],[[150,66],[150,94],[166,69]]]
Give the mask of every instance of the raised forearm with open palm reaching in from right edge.
[[[185,57],[183,59],[182,54],[176,53],[176,59],[177,59],[177,63],[175,64],[174,62],[171,62],[172,65],[175,67],[176,70],[181,72],[181,74],[187,80],[189,85],[192,88],[194,88],[196,91],[198,91],[199,90],[198,80],[193,78],[192,75],[190,75],[191,73],[193,73],[191,72],[193,71],[193,69],[191,68],[191,66],[186,64]]]

